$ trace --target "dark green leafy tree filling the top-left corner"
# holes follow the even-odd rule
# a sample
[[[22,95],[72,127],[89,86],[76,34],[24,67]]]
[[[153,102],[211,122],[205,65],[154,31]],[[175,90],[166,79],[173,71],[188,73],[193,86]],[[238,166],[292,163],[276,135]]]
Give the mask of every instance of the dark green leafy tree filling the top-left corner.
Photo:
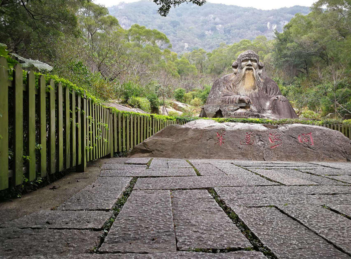
[[[83,0],[2,0],[0,38],[11,52],[48,61],[63,34],[79,34],[75,15]]]

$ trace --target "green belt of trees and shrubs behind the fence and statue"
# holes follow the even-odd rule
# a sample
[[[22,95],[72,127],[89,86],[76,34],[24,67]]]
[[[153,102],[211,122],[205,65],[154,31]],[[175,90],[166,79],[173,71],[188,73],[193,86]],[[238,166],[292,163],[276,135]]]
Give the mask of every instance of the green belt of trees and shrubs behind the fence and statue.
[[[0,55],[10,62],[10,57],[25,60],[18,55],[46,62],[53,67],[51,71],[42,71],[45,66],[29,67],[53,78],[63,77],[61,81],[71,80],[103,100],[117,98],[130,106],[151,111],[176,98],[192,104],[184,110],[185,115],[198,114],[214,80],[232,72],[231,64],[239,53],[252,49],[265,63],[264,72],[278,82],[300,116],[320,118],[333,113],[342,117],[351,113],[349,1],[318,0],[310,13],[296,14],[282,32],[275,32],[273,39],[264,33],[229,44],[218,39],[218,46],[213,50],[198,48],[183,54],[170,48],[174,41],[160,30],[138,24],[123,28],[123,19],[118,20],[107,8],[93,2],[67,0],[66,5],[62,5],[61,0],[31,0],[23,3],[25,5],[7,1],[1,6],[0,18],[6,22],[0,23],[0,39],[8,51],[0,44]],[[189,6],[205,17],[206,6],[221,5],[181,5],[172,9],[169,17],[154,17],[164,19],[163,24],[167,24],[167,19],[176,13],[182,16],[186,13],[182,10]],[[145,7],[144,18],[152,19],[148,13],[156,8],[154,3]],[[267,11],[270,12],[279,13]],[[244,16],[245,19],[238,19],[242,27],[250,27],[262,19],[248,13]],[[143,18],[140,12],[132,17]],[[188,20],[184,17],[177,25],[180,30],[174,31],[182,34],[181,28],[190,24]],[[201,26],[196,29],[207,31]],[[179,36],[179,40],[185,38],[186,35]],[[209,45],[206,40],[200,42]]]

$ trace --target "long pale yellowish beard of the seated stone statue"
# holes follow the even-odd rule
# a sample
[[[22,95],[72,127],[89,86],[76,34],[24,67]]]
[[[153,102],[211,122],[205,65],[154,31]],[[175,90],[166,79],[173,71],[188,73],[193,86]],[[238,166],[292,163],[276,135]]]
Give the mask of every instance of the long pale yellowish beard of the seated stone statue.
[[[247,69],[248,66],[240,69],[232,80],[232,87],[238,95],[249,96],[253,92],[257,92],[262,85],[262,79],[258,70],[254,67]]]

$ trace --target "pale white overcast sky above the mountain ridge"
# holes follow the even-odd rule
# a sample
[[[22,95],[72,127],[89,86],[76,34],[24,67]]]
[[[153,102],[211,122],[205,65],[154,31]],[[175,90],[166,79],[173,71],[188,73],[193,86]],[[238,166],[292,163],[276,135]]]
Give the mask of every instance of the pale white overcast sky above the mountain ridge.
[[[120,2],[136,2],[138,0],[94,0],[95,3],[104,4],[105,6],[116,5]],[[224,3],[224,4],[233,4],[243,7],[255,7],[258,9],[277,9],[281,7],[290,7],[294,5],[303,5],[311,6],[316,0],[208,0],[208,2],[214,3]]]

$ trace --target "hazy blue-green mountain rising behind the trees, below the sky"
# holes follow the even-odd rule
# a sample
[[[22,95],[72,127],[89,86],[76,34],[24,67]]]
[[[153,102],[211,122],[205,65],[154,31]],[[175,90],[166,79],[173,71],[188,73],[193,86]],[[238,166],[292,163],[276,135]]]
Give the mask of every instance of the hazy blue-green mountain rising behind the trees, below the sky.
[[[274,30],[282,31],[295,13],[310,11],[309,7],[299,5],[261,10],[210,2],[203,6],[183,3],[171,8],[167,17],[162,17],[157,8],[155,3],[141,0],[121,2],[109,7],[109,12],[117,17],[123,28],[138,23],[165,33],[173,45],[172,51],[184,53],[197,48],[210,51],[221,42],[233,44],[258,35],[272,39]]]

